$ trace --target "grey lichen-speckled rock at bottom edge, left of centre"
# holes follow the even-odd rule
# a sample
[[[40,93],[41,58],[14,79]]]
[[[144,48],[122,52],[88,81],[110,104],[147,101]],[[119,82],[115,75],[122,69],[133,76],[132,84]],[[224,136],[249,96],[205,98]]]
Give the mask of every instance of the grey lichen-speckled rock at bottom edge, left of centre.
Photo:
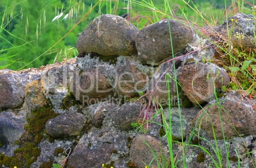
[[[92,105],[93,106],[93,105]],[[109,113],[113,113],[109,110]],[[111,126],[111,118],[107,119],[102,129],[92,127],[88,134],[80,138],[78,145],[68,158],[68,165],[73,167],[101,167],[108,164],[113,167],[126,167],[129,148],[127,132],[120,132]]]

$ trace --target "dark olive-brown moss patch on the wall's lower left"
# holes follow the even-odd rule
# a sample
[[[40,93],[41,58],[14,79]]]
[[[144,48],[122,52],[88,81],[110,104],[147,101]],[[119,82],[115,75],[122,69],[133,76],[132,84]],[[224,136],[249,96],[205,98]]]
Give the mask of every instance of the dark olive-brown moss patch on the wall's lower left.
[[[14,151],[13,157],[7,157],[0,154],[0,167],[27,167],[29,168],[33,162],[36,162],[40,155],[38,144],[44,136],[45,124],[48,119],[56,117],[57,113],[53,112],[52,106],[45,105],[45,107],[38,108],[27,115],[27,124],[24,126],[25,133],[17,142],[20,145]]]

